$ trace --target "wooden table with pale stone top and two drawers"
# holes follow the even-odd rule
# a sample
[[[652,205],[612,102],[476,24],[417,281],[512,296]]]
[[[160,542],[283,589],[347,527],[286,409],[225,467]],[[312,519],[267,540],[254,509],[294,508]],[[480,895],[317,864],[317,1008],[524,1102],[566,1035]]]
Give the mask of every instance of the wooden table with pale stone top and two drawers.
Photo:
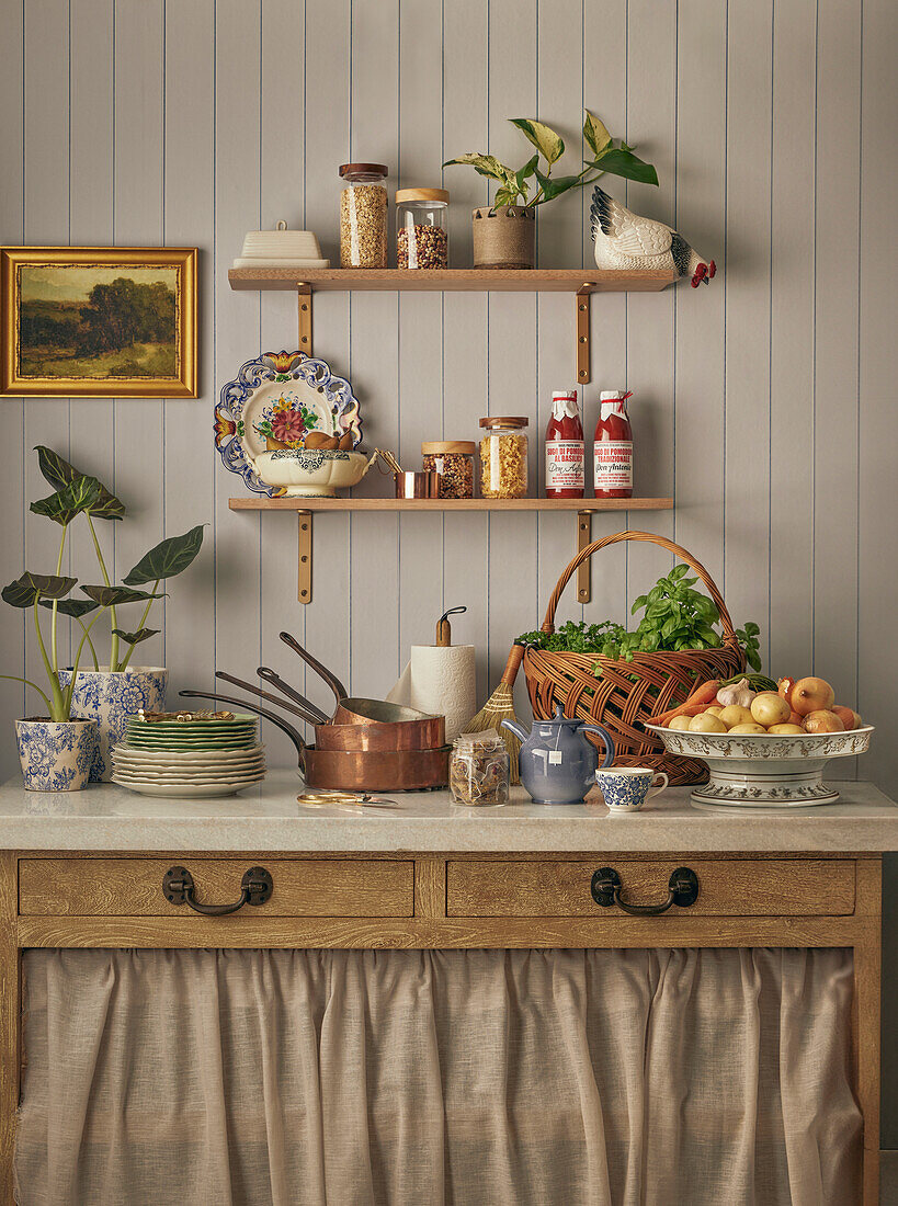
[[[688,789],[644,813],[604,806],[459,808],[446,792],[395,809],[301,808],[299,780],[212,801],[104,785],[0,789],[0,1200],[12,1202],[20,1047],[20,952],[31,947],[518,948],[851,947],[852,1055],[864,1117],[863,1201],[879,1200],[881,862],[898,807],[869,784],[838,804],[705,812]],[[270,897],[206,917],[183,896],[231,903],[263,867]],[[600,868],[624,902],[658,903],[671,874],[693,903],[656,917],[603,904]],[[258,874],[254,882],[259,879]],[[171,880],[174,879],[174,884]]]

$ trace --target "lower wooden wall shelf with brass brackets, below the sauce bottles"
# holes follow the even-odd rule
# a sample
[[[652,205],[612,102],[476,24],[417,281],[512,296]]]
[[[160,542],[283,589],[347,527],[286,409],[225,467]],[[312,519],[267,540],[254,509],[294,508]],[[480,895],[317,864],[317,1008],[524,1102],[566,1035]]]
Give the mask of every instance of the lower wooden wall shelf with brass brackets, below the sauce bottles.
[[[312,602],[312,515],[315,511],[399,511],[405,515],[471,511],[554,511],[576,516],[576,549],[592,540],[592,516],[598,511],[669,511],[673,498],[230,498],[233,511],[293,511],[299,516],[300,603]],[[589,560],[577,569],[577,603],[592,598]]]

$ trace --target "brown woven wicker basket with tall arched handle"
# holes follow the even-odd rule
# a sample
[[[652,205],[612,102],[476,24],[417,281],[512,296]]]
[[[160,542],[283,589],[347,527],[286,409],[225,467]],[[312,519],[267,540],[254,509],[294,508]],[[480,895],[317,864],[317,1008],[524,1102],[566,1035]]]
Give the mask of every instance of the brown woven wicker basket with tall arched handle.
[[[548,652],[528,649],[524,654],[527,691],[533,714],[548,720],[560,704],[565,716],[601,724],[615,739],[617,766],[651,766],[664,771],[673,785],[704,783],[708,767],[698,759],[677,757],[664,751],[657,737],[642,722],[675,708],[699,683],[730,678],[745,669],[745,654],[733,631],[733,621],[709,573],[689,554],[662,535],[650,532],[617,532],[595,540],[571,561],[552,592],[542,621],[542,632],[554,632],[554,611],[562,591],[577,567],[599,549],[621,540],[648,540],[675,554],[698,574],[721,614],[723,644],[717,649],[683,649],[679,652],[634,654],[626,662],[599,654]],[[601,667],[599,678],[595,666]]]

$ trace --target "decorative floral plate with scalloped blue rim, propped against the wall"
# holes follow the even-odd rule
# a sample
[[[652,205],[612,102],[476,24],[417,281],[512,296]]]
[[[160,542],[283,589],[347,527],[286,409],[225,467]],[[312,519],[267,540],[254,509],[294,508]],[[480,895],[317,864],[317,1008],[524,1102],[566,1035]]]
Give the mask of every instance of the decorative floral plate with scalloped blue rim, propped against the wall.
[[[247,361],[234,381],[222,386],[215,412],[215,444],[225,469],[239,473],[254,494],[274,498],[253,468],[260,452],[301,446],[309,432],[352,433],[362,443],[359,405],[352,386],[324,361],[305,352],[264,352]]]

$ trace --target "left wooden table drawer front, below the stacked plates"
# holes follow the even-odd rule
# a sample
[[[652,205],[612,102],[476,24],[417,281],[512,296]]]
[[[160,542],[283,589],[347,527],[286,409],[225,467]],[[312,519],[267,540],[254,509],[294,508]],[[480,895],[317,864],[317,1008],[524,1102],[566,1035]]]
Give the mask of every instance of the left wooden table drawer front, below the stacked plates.
[[[184,917],[163,895],[169,868],[186,867],[204,904],[233,903],[253,866],[272,880],[264,904],[240,917],[412,917],[415,863],[381,859],[22,859],[19,914],[25,917]]]

